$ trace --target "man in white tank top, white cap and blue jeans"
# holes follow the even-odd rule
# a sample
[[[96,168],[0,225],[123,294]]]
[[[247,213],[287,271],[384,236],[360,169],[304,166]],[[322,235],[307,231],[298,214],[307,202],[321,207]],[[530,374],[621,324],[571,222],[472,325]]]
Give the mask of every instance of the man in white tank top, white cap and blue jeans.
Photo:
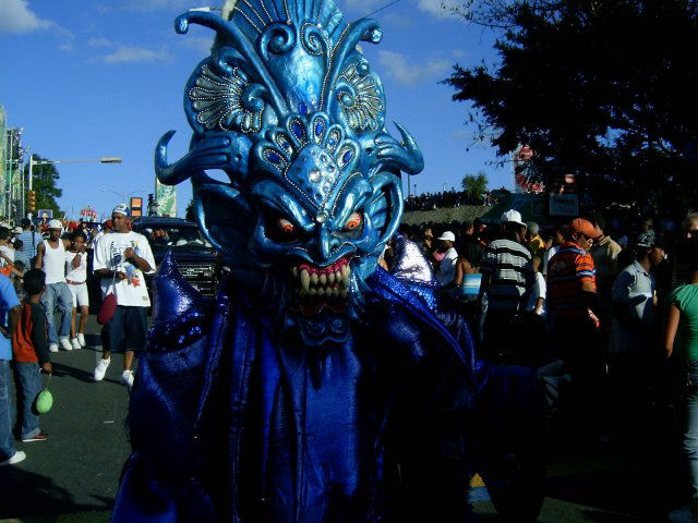
[[[68,336],[73,313],[73,295],[65,282],[65,250],[70,247],[69,240],[61,239],[62,224],[60,220],[51,220],[48,224],[49,239],[38,244],[36,250],[36,268],[46,272],[46,291],[41,295],[41,305],[46,311],[48,323],[48,349],[58,352],[58,345],[72,351]],[[53,311],[58,307],[61,323],[56,332]]]

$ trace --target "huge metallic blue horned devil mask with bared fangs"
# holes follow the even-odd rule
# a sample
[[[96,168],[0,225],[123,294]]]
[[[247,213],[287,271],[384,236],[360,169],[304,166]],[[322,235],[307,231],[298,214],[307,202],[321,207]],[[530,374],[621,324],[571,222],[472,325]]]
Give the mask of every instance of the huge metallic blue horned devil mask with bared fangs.
[[[191,179],[203,233],[286,316],[356,314],[400,221],[400,171],[423,168],[412,136],[386,131],[381,78],[357,49],[381,41],[378,23],[347,24],[334,0],[240,0],[229,21],[189,12],[177,32],[192,23],[216,44],[184,93],[189,154],[169,165],[173,131],[158,143],[160,182]]]

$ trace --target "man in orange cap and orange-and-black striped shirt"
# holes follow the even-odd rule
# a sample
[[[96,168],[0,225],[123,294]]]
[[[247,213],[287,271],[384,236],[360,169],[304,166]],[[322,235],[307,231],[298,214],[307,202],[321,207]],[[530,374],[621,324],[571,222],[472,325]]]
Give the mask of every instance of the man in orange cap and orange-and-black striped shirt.
[[[599,318],[597,280],[589,250],[599,231],[583,218],[575,218],[564,230],[565,242],[547,265],[547,305],[552,320],[553,350],[565,361],[573,379],[570,412],[586,425],[599,405],[598,379],[602,351],[595,342]]]

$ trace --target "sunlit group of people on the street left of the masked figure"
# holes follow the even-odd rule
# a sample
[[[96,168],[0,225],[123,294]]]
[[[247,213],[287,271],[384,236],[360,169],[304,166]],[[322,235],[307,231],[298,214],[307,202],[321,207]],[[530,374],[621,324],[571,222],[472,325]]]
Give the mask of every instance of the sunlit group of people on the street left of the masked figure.
[[[25,443],[48,439],[39,426],[37,398],[41,373],[52,372],[51,353],[86,346],[88,248],[103,297],[103,357],[95,381],[104,379],[111,351],[122,348],[121,382],[130,390],[134,352],[146,341],[151,301],[143,275],[155,270],[155,260],[147,239],[131,230],[129,207],[115,207],[111,220],[98,230],[57,219],[46,226],[46,238],[28,219],[21,229],[0,227],[0,465],[25,459],[15,438]],[[17,399],[14,426],[11,369]]]

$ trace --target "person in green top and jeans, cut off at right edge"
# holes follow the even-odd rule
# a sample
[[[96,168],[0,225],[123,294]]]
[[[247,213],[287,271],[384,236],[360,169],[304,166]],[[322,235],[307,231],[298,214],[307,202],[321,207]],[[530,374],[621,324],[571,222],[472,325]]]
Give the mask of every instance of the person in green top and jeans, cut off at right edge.
[[[698,518],[698,239],[691,238],[677,253],[679,270],[686,283],[669,295],[664,331],[666,356],[676,354],[681,362],[681,426],[683,451],[690,472],[690,504]]]

